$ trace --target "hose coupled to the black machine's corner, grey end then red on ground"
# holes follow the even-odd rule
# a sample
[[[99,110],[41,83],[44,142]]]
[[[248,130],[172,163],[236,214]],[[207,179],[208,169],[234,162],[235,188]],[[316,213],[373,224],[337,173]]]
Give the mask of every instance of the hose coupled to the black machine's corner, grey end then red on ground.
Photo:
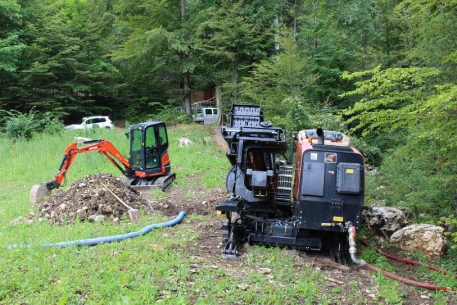
[[[351,260],[355,264],[357,264],[358,266],[365,267],[367,269],[370,269],[370,270],[373,270],[373,271],[376,271],[376,272],[381,272],[384,276],[386,276],[386,277],[388,277],[390,279],[393,279],[393,280],[396,280],[396,281],[400,281],[400,282],[403,282],[403,283],[408,284],[408,285],[414,285],[414,286],[417,286],[417,287],[426,288],[426,289],[430,289],[430,290],[444,290],[444,291],[453,291],[453,292],[455,292],[455,290],[451,289],[451,288],[439,287],[439,286],[430,285],[430,284],[427,284],[427,283],[421,283],[421,282],[413,281],[413,280],[406,279],[406,278],[403,278],[403,277],[399,277],[397,275],[394,275],[394,273],[390,273],[390,272],[387,272],[385,270],[376,268],[372,264],[369,264],[369,263],[365,262],[363,259],[358,259],[355,256],[355,254],[357,252],[356,251],[356,247],[355,247],[355,227],[353,226],[353,224],[351,222],[349,222],[347,224],[347,226],[348,226],[348,239],[349,239],[349,254],[351,256]]]

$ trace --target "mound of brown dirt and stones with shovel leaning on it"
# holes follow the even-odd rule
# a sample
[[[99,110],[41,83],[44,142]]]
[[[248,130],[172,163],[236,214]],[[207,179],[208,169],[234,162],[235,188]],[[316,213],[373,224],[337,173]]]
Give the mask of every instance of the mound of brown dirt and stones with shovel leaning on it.
[[[128,208],[110,194],[102,182],[129,206],[143,206],[146,212],[150,211],[148,201],[136,191],[124,186],[119,178],[99,173],[76,180],[67,190],[59,190],[40,202],[40,211],[38,215],[34,213],[34,217],[59,225],[72,224],[78,219],[118,222],[124,215],[128,217]]]

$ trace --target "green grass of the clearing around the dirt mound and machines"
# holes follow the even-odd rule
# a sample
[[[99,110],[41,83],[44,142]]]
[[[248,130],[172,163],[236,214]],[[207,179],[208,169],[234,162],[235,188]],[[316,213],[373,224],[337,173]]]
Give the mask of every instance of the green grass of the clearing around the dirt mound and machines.
[[[196,188],[224,186],[230,164],[212,133],[211,128],[193,125],[169,128],[172,170],[177,174],[173,188],[188,190],[185,198],[192,198]],[[184,134],[189,135],[193,146],[178,146],[178,139]],[[195,256],[200,247],[197,225],[209,225],[214,216],[191,215],[177,227],[96,247],[37,246],[130,232],[170,219],[143,215],[140,223],[124,219],[119,224],[75,223],[58,227],[35,222],[11,226],[11,220],[36,209],[28,203],[30,187],[52,179],[64,148],[75,135],[106,138],[128,155],[128,141],[121,130],[36,135],[28,142],[16,143],[0,139],[0,247],[12,243],[35,245],[0,252],[0,304],[366,302],[357,281],[329,288],[323,279],[329,275],[301,262],[293,251],[250,246],[238,260],[223,260],[218,253],[206,257],[199,252],[200,256]],[[120,174],[104,156],[82,154],[69,171],[68,182],[97,172]],[[161,192],[153,195],[154,200],[163,197]],[[221,222],[217,219],[216,224]],[[379,256],[365,253],[368,261],[388,267]],[[227,263],[232,267],[226,267]],[[197,273],[191,272],[190,264],[198,265]],[[258,273],[260,267],[271,268],[271,274]],[[380,302],[398,303],[405,299],[398,284],[381,275],[375,276],[373,285]],[[442,303],[452,299],[443,293],[433,296]]]

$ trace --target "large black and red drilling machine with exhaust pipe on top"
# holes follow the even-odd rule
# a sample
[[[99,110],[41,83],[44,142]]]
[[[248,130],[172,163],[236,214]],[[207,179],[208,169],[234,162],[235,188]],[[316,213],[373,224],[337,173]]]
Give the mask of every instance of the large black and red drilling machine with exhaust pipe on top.
[[[227,217],[222,254],[236,257],[248,241],[328,249],[344,263],[347,223],[359,228],[365,187],[364,158],[342,142],[344,135],[301,131],[287,143],[286,131],[263,121],[260,106],[234,104],[222,136],[233,166],[226,177],[233,196],[216,207]]]

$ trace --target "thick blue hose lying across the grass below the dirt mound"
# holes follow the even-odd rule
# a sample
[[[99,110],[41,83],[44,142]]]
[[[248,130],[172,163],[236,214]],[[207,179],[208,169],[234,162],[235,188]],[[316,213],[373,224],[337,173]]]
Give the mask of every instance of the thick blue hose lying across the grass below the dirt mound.
[[[151,224],[147,227],[144,227],[140,231],[125,233],[125,234],[120,234],[120,235],[113,235],[113,236],[62,241],[62,242],[55,242],[55,243],[42,243],[41,246],[42,247],[58,247],[58,248],[63,248],[63,247],[68,247],[68,246],[96,246],[96,245],[99,245],[100,243],[109,243],[109,242],[113,242],[113,241],[120,241],[120,240],[124,240],[127,238],[133,238],[133,237],[144,235],[144,234],[150,232],[152,229],[172,227],[174,225],[179,224],[185,216],[186,216],[186,212],[181,211],[181,212],[179,212],[178,216],[171,221],[168,221],[165,223],[159,223],[159,224]],[[30,246],[31,245],[10,245],[10,246],[7,246],[7,248],[8,249],[29,248]]]

